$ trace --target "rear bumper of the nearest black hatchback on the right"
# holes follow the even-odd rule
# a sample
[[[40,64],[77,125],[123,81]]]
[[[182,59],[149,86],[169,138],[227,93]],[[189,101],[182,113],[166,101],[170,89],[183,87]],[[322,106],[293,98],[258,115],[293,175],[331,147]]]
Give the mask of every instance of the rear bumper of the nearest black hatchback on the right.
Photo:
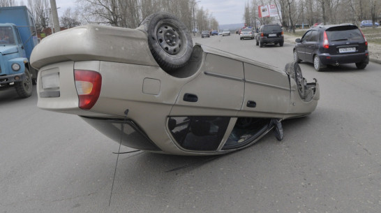
[[[319,58],[322,64],[352,64],[359,62],[365,62],[366,64],[369,63],[368,50],[354,54],[331,55],[329,53],[323,53],[319,54]]]

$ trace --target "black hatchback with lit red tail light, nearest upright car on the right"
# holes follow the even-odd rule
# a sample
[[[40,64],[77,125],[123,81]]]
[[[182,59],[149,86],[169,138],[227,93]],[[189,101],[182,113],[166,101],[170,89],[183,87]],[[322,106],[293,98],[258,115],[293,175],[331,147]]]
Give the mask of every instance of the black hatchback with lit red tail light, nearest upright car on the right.
[[[353,24],[314,27],[295,41],[294,61],[313,63],[316,71],[327,65],[351,63],[363,69],[369,63],[368,42]]]

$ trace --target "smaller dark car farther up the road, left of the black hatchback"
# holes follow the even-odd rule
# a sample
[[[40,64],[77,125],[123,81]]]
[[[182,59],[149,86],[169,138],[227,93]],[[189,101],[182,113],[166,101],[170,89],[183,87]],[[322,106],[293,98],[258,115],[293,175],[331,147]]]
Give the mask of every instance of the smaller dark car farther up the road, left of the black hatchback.
[[[256,45],[263,47],[265,44],[279,44],[281,47],[285,41],[283,37],[283,29],[278,24],[262,25],[255,36]]]

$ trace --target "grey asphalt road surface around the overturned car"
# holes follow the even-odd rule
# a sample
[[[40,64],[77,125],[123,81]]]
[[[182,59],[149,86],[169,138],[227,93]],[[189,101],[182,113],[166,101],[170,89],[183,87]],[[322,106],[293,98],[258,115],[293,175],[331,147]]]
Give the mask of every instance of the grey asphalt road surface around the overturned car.
[[[292,61],[288,43],[193,41],[279,68]],[[381,212],[381,65],[301,69],[319,80],[320,102],[283,122],[281,142],[268,134],[212,158],[120,154],[112,193],[116,142],[75,115],[38,109],[36,88],[27,99],[0,91],[0,213]]]

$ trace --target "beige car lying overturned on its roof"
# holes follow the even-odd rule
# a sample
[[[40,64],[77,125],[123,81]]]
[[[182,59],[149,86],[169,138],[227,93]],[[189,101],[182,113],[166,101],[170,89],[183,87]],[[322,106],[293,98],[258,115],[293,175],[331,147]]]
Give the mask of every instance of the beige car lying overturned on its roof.
[[[317,81],[204,45],[167,13],[137,29],[89,25],[33,50],[38,107],[79,115],[121,145],[179,155],[253,145],[283,119],[315,110]]]

